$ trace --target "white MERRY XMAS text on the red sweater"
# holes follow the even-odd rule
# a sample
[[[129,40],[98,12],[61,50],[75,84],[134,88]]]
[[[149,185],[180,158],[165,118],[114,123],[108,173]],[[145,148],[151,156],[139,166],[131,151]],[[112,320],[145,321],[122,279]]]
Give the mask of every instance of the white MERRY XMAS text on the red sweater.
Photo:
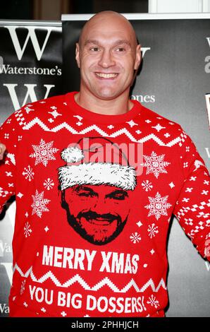
[[[100,257],[98,257],[99,255]],[[42,265],[92,271],[92,265],[96,257],[97,260],[101,260],[99,271],[110,273],[135,274],[138,268],[137,262],[140,260],[140,256],[137,254],[44,245]]]

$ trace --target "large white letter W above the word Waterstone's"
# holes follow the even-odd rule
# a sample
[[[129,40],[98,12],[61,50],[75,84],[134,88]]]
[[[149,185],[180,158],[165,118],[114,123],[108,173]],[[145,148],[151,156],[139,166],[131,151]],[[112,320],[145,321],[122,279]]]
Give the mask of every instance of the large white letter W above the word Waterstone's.
[[[11,39],[13,41],[13,46],[16,49],[16,54],[17,54],[18,60],[22,59],[23,54],[25,52],[25,48],[27,46],[27,42],[30,39],[32,41],[32,45],[35,49],[35,54],[37,56],[38,61],[42,58],[42,54],[43,54],[44,49],[47,45],[47,41],[49,40],[49,35],[51,34],[51,30],[54,29],[53,27],[46,28],[47,29],[47,36],[45,37],[44,44],[42,45],[42,48],[41,48],[41,47],[39,47],[39,42],[37,40],[37,35],[35,33],[35,29],[37,29],[38,27],[27,27],[27,28],[25,27],[25,29],[27,29],[28,32],[27,32],[27,37],[25,39],[25,43],[24,43],[23,47],[21,48],[20,42],[18,40],[18,35],[17,35],[17,32],[16,32],[16,29],[20,28],[20,27],[4,25],[4,28],[8,29],[8,31],[11,35]],[[43,27],[42,27],[42,29],[43,29]]]

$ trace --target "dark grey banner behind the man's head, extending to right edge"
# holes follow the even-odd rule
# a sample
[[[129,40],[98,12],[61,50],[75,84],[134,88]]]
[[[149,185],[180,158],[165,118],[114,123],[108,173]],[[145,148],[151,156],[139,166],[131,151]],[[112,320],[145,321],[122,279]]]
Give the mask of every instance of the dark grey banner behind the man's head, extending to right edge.
[[[129,14],[125,16],[130,19]],[[75,42],[88,18],[63,16],[63,93],[80,89]],[[131,98],[178,122],[209,168],[206,94],[210,92],[210,15],[204,19],[187,15],[186,19],[173,19],[172,15],[151,18],[137,14],[130,19],[142,45],[142,65]],[[156,130],[161,129],[160,118]],[[208,189],[206,184],[204,198]],[[175,218],[171,220],[168,239],[166,316],[210,316],[209,263],[199,256]]]

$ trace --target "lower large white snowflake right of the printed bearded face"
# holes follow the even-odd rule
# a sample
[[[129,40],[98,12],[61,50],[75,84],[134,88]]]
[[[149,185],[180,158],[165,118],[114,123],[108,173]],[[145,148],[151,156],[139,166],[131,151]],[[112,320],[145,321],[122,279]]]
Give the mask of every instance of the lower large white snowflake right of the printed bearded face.
[[[168,215],[167,208],[170,208],[171,204],[167,203],[168,195],[161,197],[159,192],[156,193],[155,197],[148,197],[149,204],[144,208],[149,209],[148,217],[154,215],[156,220],[159,220],[161,215]]]

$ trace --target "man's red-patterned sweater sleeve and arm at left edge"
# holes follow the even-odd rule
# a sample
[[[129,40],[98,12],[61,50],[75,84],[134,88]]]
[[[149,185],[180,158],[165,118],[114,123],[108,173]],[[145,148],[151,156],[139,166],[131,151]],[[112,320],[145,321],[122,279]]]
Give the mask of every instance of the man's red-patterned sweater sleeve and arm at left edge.
[[[0,128],[0,213],[16,194],[16,117],[12,114]]]

